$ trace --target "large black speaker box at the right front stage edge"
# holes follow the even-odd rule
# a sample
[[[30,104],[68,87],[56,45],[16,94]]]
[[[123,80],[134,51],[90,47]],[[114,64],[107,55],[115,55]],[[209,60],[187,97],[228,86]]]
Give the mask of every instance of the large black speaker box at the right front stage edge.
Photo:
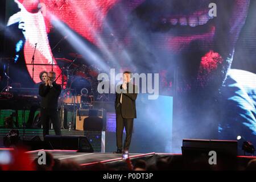
[[[184,167],[187,169],[236,169],[236,140],[183,139],[181,149]]]

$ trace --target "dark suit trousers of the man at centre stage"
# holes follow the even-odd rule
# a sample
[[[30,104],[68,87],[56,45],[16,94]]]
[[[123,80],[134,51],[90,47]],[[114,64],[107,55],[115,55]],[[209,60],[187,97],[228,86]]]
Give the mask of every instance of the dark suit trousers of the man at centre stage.
[[[132,119],[125,119],[122,117],[121,114],[121,107],[120,104],[117,107],[117,115],[116,115],[116,137],[117,137],[117,150],[129,150],[130,144],[131,144],[131,135],[133,133],[133,118]],[[125,137],[125,143],[123,143],[123,128],[125,128],[126,137]]]

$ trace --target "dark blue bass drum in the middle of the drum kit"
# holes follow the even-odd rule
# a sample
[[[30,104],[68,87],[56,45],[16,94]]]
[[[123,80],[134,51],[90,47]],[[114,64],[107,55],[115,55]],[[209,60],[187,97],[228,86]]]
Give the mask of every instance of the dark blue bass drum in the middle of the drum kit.
[[[73,96],[84,96],[91,93],[92,84],[89,78],[74,76],[70,88]]]

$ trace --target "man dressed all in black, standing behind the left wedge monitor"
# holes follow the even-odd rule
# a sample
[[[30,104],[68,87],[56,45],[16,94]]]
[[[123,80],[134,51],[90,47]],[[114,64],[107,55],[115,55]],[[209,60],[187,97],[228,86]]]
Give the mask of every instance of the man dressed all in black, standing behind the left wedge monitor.
[[[43,125],[43,136],[49,135],[49,119],[52,121],[56,135],[61,135],[60,121],[57,114],[58,99],[61,86],[55,82],[56,73],[49,72],[48,77],[39,86],[41,100],[41,121]]]

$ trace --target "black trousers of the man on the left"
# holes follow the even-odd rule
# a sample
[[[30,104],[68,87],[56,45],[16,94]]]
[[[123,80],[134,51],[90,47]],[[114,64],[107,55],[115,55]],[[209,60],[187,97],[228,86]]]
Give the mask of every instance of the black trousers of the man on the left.
[[[48,109],[41,107],[41,122],[43,125],[43,137],[49,135],[49,119],[52,121],[53,129],[56,135],[61,135],[60,120],[57,109]]]

